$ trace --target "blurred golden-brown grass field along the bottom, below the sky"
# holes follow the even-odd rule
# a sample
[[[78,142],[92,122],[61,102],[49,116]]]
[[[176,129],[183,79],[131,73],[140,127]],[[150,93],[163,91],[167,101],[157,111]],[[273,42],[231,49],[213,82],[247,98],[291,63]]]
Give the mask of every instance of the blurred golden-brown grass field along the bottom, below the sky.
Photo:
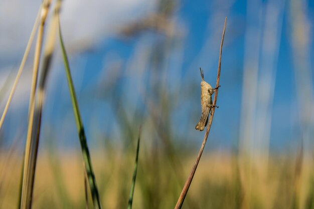
[[[79,155],[71,153],[57,157],[56,151],[53,156],[39,154],[34,208],[85,206],[84,173]],[[117,159],[117,155],[121,158]],[[108,158],[94,153],[92,157],[99,194],[103,208],[126,208],[135,150],[129,154],[115,152],[114,156]],[[2,175],[5,179],[1,184],[2,208],[17,207],[19,158],[14,155],[9,164],[1,164],[10,171],[10,175],[8,172]],[[302,188],[298,191],[299,206],[294,205],[296,162],[291,156],[272,156],[268,168],[254,167],[250,194],[244,190],[249,179],[245,178],[235,159],[236,156],[227,153],[204,155],[183,208],[312,208],[313,166],[310,159],[304,162],[306,169],[299,179]],[[183,173],[187,175],[194,159],[187,156],[181,161],[186,164]],[[141,151],[133,208],[173,208],[184,183],[178,182],[176,172],[165,155]],[[251,196],[250,202],[247,202],[247,195]]]

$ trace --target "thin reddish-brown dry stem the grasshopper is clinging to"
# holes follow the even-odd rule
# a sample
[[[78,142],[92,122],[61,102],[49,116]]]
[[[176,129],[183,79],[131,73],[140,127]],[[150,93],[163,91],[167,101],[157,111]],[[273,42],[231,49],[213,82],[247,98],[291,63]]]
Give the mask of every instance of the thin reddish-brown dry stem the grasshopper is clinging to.
[[[201,156],[202,156],[202,153],[203,153],[203,150],[204,150],[204,147],[205,147],[205,144],[206,144],[206,141],[207,141],[207,137],[208,137],[208,134],[209,134],[209,131],[211,129],[211,125],[212,125],[212,122],[213,122],[213,118],[214,118],[214,113],[215,113],[215,105],[216,105],[216,101],[217,101],[217,95],[218,95],[218,87],[219,87],[219,80],[220,80],[220,68],[221,68],[221,54],[222,54],[222,45],[223,45],[223,42],[224,42],[224,36],[225,36],[225,31],[226,31],[226,23],[227,23],[227,17],[225,19],[225,25],[224,25],[224,30],[223,30],[223,33],[222,33],[222,39],[221,39],[221,44],[220,44],[220,53],[219,53],[219,61],[218,61],[218,73],[217,73],[217,80],[216,80],[216,92],[215,92],[215,97],[214,97],[214,101],[213,101],[213,107],[212,107],[212,113],[210,115],[210,118],[209,118],[209,122],[208,122],[208,126],[207,126],[207,129],[206,129],[206,133],[205,133],[205,136],[204,136],[204,139],[203,139],[203,143],[202,143],[202,146],[201,146],[201,149],[199,151],[199,154],[197,155],[197,158],[194,162],[194,165],[192,167],[192,170],[190,172],[190,175],[181,191],[181,194],[180,194],[180,197],[178,199],[178,202],[175,206],[175,209],[178,209],[178,208],[181,208],[182,205],[183,205],[183,202],[184,202],[184,199],[188,193],[188,190],[189,190],[189,187],[191,185],[191,182],[192,182],[192,179],[193,179],[193,176],[195,174],[195,171],[196,171],[196,168],[200,162],[200,159],[201,159]]]

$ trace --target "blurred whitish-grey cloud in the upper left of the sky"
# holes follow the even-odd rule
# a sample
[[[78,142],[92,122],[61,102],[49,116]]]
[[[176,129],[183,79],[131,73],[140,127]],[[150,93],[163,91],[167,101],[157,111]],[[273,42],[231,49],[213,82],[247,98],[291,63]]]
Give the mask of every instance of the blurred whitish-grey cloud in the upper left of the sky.
[[[40,0],[2,1],[0,56],[3,61],[9,62],[12,57],[20,59],[22,56],[41,2]],[[64,0],[60,17],[64,39],[67,45],[78,44],[80,41],[95,44],[112,35],[121,25],[152,11],[155,2]]]

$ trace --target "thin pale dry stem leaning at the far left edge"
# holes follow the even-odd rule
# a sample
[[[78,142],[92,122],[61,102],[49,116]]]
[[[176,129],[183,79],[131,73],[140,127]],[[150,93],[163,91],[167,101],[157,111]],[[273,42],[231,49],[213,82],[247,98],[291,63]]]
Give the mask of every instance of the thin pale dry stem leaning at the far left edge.
[[[2,128],[2,125],[4,123],[4,120],[6,118],[9,106],[11,104],[11,101],[12,101],[12,98],[13,98],[13,95],[14,95],[14,92],[15,92],[15,90],[17,88],[18,82],[19,82],[21,74],[23,72],[24,65],[26,63],[28,54],[30,52],[30,49],[31,49],[31,46],[32,46],[32,43],[33,43],[33,40],[34,40],[34,37],[35,37],[36,29],[38,27],[38,22],[39,22],[40,17],[41,17],[41,12],[42,12],[42,6],[39,8],[38,15],[36,17],[36,20],[35,20],[35,23],[34,23],[34,26],[33,26],[32,32],[31,32],[31,36],[30,36],[29,42],[27,43],[27,46],[26,46],[26,49],[25,49],[25,53],[23,55],[23,59],[22,59],[22,62],[21,62],[21,65],[20,65],[17,77],[15,78],[12,90],[10,92],[10,95],[9,95],[9,98],[8,98],[8,101],[7,101],[7,104],[6,104],[6,107],[5,107],[5,110],[4,110],[4,112],[3,112],[2,116],[1,116],[1,119],[0,119],[0,129]]]

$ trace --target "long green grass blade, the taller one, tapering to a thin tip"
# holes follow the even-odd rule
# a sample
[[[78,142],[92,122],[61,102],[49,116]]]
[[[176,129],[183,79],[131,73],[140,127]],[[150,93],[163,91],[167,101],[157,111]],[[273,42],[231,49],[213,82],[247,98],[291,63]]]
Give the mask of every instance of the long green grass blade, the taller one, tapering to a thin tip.
[[[95,179],[94,171],[92,168],[92,162],[90,159],[90,154],[89,154],[89,150],[87,146],[84,127],[83,127],[83,123],[82,123],[82,119],[81,119],[81,115],[80,115],[80,111],[79,111],[79,107],[78,107],[78,103],[76,99],[76,94],[74,90],[74,85],[73,85],[73,81],[71,77],[69,61],[68,61],[68,57],[65,51],[63,40],[62,40],[59,17],[58,17],[58,23],[59,23],[59,40],[60,40],[60,45],[61,45],[61,50],[62,50],[64,67],[65,67],[65,71],[67,75],[67,80],[68,80],[68,85],[69,85],[69,90],[70,90],[70,95],[71,95],[71,100],[72,100],[72,105],[73,105],[73,112],[75,116],[77,131],[78,131],[81,149],[82,149],[83,160],[85,163],[85,170],[88,176],[88,183],[89,183],[90,191],[92,194],[94,208],[101,208],[98,189],[96,185],[96,179]]]

